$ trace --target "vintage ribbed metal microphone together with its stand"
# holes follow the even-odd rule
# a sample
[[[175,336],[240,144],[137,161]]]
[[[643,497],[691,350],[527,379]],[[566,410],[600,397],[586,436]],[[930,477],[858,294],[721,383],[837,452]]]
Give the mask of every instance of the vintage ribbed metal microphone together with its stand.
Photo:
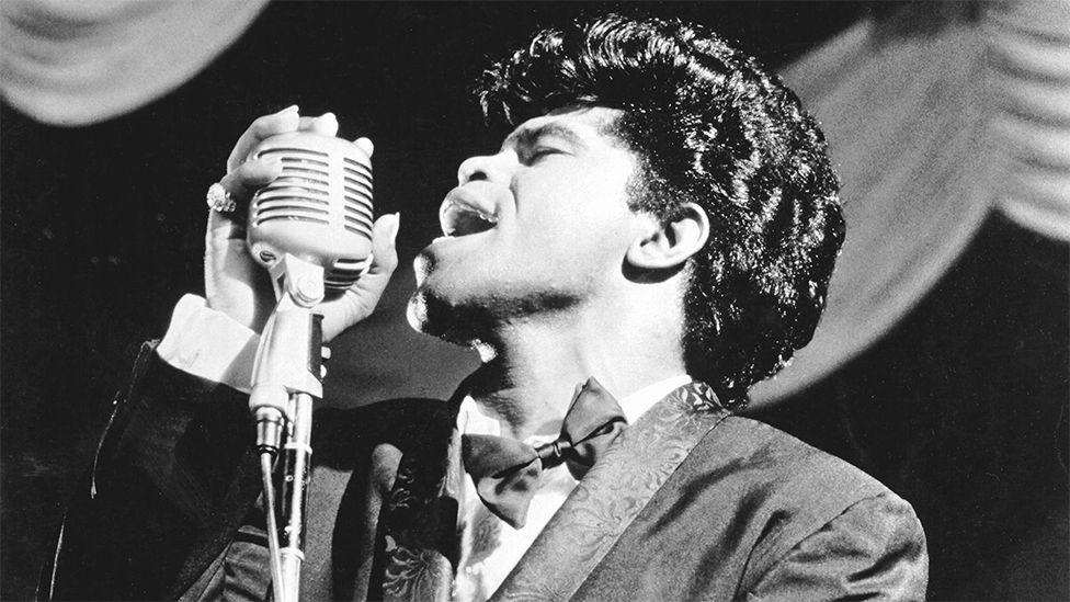
[[[249,408],[261,452],[274,598],[297,602],[312,402],[323,396],[326,372],[322,316],[314,309],[356,282],[371,260],[372,162],[355,144],[310,132],[268,138],[253,156],[281,159],[282,174],[249,206],[249,252],[270,272],[277,300],[257,350]],[[272,479],[280,453],[281,532]]]

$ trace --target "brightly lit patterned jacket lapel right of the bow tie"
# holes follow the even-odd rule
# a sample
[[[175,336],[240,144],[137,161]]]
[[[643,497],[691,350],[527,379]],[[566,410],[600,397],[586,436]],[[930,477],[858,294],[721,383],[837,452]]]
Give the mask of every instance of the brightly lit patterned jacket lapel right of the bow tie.
[[[613,442],[491,600],[571,597],[692,448],[729,413],[703,383],[669,394]]]

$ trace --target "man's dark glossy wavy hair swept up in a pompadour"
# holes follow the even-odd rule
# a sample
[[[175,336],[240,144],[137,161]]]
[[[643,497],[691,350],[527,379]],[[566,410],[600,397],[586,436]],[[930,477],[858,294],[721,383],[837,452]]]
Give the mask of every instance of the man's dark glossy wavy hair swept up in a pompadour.
[[[705,208],[684,352],[724,402],[742,407],[810,341],[844,237],[839,181],[815,120],[755,59],[698,25],[611,14],[537,33],[476,94],[500,125],[619,109],[614,134],[640,166],[631,208],[664,222],[682,203]]]

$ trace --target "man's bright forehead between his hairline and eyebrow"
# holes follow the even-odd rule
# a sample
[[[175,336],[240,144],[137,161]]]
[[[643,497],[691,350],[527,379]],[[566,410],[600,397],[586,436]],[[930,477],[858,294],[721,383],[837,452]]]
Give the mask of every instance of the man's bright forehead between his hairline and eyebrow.
[[[505,137],[502,147],[532,144],[543,137],[556,137],[577,146],[622,146],[614,135],[614,124],[624,114],[605,106],[567,107],[527,120]]]

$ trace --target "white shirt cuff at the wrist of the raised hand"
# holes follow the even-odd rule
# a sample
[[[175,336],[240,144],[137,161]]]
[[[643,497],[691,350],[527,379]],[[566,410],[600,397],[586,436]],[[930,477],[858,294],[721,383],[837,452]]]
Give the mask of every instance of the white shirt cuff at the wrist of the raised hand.
[[[185,295],[156,352],[182,372],[249,393],[259,345],[251,329],[209,309],[203,297]]]

